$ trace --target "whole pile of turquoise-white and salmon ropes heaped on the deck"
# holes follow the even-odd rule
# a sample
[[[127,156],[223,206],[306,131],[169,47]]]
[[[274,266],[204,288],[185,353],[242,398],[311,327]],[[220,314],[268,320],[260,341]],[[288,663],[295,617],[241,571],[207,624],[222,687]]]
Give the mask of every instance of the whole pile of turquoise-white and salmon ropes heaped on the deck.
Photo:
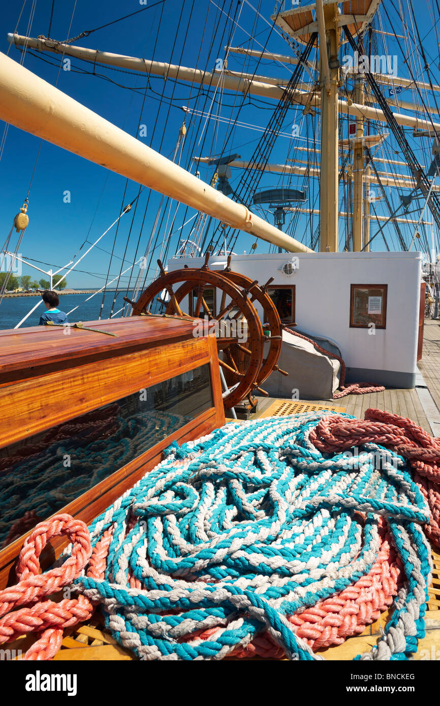
[[[141,659],[322,659],[316,649],[362,632],[391,605],[376,647],[359,659],[408,659],[424,636],[432,511],[403,450],[426,466],[420,454],[431,462],[437,448],[392,416],[399,433],[376,429],[380,445],[371,421],[328,412],[228,424],[172,445],[90,535],[69,515],[35,528],[18,585],[0,592],[0,642],[36,630],[25,658],[49,659],[63,628],[100,604],[113,637]],[[44,544],[63,533],[71,546],[39,575]],[[66,585],[77,598],[41,601]]]

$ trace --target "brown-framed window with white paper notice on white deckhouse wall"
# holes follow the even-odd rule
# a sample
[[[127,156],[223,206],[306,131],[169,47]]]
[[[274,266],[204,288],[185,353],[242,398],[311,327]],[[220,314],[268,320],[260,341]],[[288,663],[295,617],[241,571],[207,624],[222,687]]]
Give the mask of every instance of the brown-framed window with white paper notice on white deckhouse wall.
[[[351,285],[350,328],[386,328],[388,285]]]

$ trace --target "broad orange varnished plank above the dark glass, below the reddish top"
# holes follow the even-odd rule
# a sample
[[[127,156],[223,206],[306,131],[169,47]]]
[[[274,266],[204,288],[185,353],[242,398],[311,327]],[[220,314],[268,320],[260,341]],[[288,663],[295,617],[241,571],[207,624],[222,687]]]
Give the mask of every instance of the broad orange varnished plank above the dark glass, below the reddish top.
[[[208,362],[214,388],[212,361],[218,359],[213,349],[215,342],[213,337],[210,354],[205,337],[191,336],[107,359],[98,357],[82,365],[65,365],[64,369],[45,375],[41,371],[36,378],[24,375],[23,381],[0,388],[0,448]],[[43,405],[42,400],[50,403]]]

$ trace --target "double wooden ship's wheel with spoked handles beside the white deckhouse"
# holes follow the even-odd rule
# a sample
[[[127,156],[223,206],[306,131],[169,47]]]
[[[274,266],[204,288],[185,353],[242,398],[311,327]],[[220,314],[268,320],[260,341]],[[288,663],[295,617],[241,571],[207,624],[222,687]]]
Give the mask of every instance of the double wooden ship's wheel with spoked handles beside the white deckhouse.
[[[204,330],[217,337],[219,363],[227,381],[228,389],[223,394],[225,408],[238,405],[246,397],[254,406],[251,397],[254,390],[267,394],[260,385],[270,373],[279,370],[277,363],[283,343],[283,325],[267,293],[272,280],[260,287],[256,280],[233,273],[230,258],[225,270],[210,270],[209,256],[210,253],[200,269],[185,267],[171,273],[165,273],[158,261],[160,277],[145,289],[138,301],[130,302],[133,315],[152,315],[150,309],[165,289],[169,295],[164,304],[165,316],[207,320]],[[207,289],[216,293],[210,304],[203,296]],[[182,311],[180,305],[184,299],[189,311]],[[261,318],[254,306],[257,303]]]

